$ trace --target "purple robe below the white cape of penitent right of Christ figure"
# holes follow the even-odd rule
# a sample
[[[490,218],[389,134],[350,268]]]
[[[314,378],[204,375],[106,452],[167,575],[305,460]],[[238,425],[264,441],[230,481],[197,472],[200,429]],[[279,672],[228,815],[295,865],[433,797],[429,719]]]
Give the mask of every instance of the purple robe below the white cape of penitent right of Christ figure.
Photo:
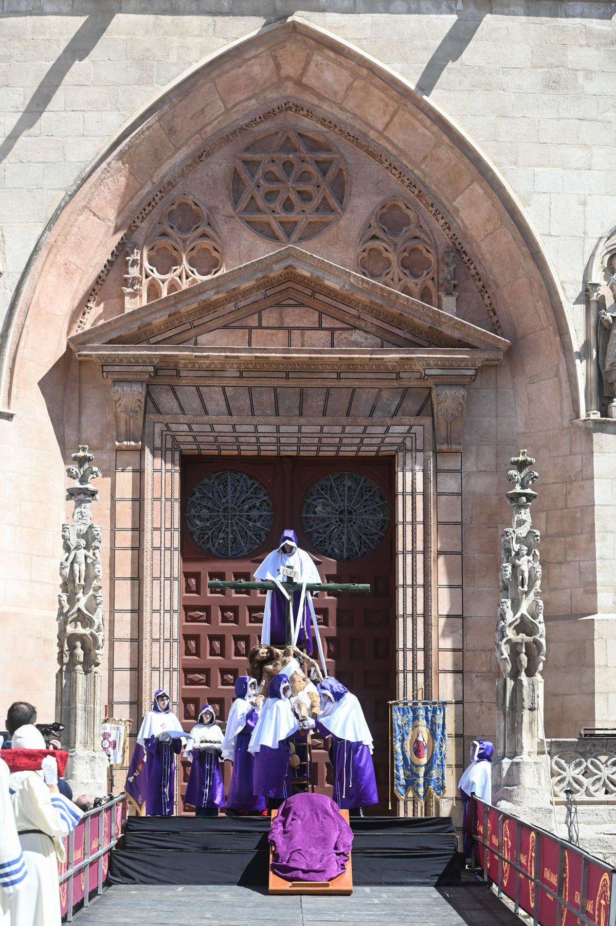
[[[340,740],[318,720],[316,729],[323,737],[331,736],[329,761],[334,771],[334,800],[343,810],[378,804],[375,766],[370,750],[363,743]]]

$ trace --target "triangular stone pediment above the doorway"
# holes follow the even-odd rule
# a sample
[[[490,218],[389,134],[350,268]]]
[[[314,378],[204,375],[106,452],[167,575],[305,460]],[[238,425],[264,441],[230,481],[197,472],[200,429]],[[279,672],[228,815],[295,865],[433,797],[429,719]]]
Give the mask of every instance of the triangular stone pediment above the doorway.
[[[78,356],[166,348],[495,351],[492,332],[289,246],[69,338]]]

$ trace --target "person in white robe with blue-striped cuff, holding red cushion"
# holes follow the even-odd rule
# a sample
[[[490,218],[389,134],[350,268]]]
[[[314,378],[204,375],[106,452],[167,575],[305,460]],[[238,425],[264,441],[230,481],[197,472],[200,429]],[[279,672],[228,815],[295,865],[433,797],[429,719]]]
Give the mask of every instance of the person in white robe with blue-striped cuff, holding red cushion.
[[[30,725],[19,727],[12,745],[21,749],[44,749],[41,734]],[[57,863],[66,857],[64,836],[75,829],[81,817],[79,807],[60,794],[51,793],[43,772],[14,771],[9,779],[19,842],[30,877],[27,890],[11,901],[11,926],[58,926],[60,894]],[[35,830],[37,832],[24,832]]]

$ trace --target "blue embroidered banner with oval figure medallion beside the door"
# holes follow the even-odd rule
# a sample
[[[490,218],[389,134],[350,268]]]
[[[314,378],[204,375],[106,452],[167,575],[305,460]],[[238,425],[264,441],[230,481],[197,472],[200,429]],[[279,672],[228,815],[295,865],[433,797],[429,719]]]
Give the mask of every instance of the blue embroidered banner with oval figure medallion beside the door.
[[[442,701],[393,705],[394,790],[401,799],[445,791],[446,709]]]

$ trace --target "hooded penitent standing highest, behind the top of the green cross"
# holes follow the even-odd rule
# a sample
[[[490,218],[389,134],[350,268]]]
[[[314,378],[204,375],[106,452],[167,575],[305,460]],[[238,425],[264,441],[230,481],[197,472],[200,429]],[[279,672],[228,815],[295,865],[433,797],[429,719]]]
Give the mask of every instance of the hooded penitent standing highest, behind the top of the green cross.
[[[284,553],[282,547],[289,544],[293,549],[291,553]],[[273,550],[265,557],[261,566],[256,569],[254,578],[261,582],[267,582],[277,579],[279,582],[285,582],[286,577],[278,573],[280,567],[295,569],[299,573],[297,582],[321,582],[318,569],[314,565],[313,558],[305,550],[301,550],[297,544],[297,534],[295,531],[287,530],[282,532],[280,543],[277,550]],[[310,593],[306,593],[308,595]],[[293,619],[295,622],[300,620],[300,630],[298,634],[298,645],[305,647],[306,652],[313,651],[313,634],[310,623],[310,606],[307,597],[304,598],[302,614],[299,614],[302,592],[298,591],[293,594]],[[287,642],[287,599],[278,589],[267,593],[265,610],[269,611],[269,619],[264,618],[264,633],[261,642],[264,644],[282,644]]]

